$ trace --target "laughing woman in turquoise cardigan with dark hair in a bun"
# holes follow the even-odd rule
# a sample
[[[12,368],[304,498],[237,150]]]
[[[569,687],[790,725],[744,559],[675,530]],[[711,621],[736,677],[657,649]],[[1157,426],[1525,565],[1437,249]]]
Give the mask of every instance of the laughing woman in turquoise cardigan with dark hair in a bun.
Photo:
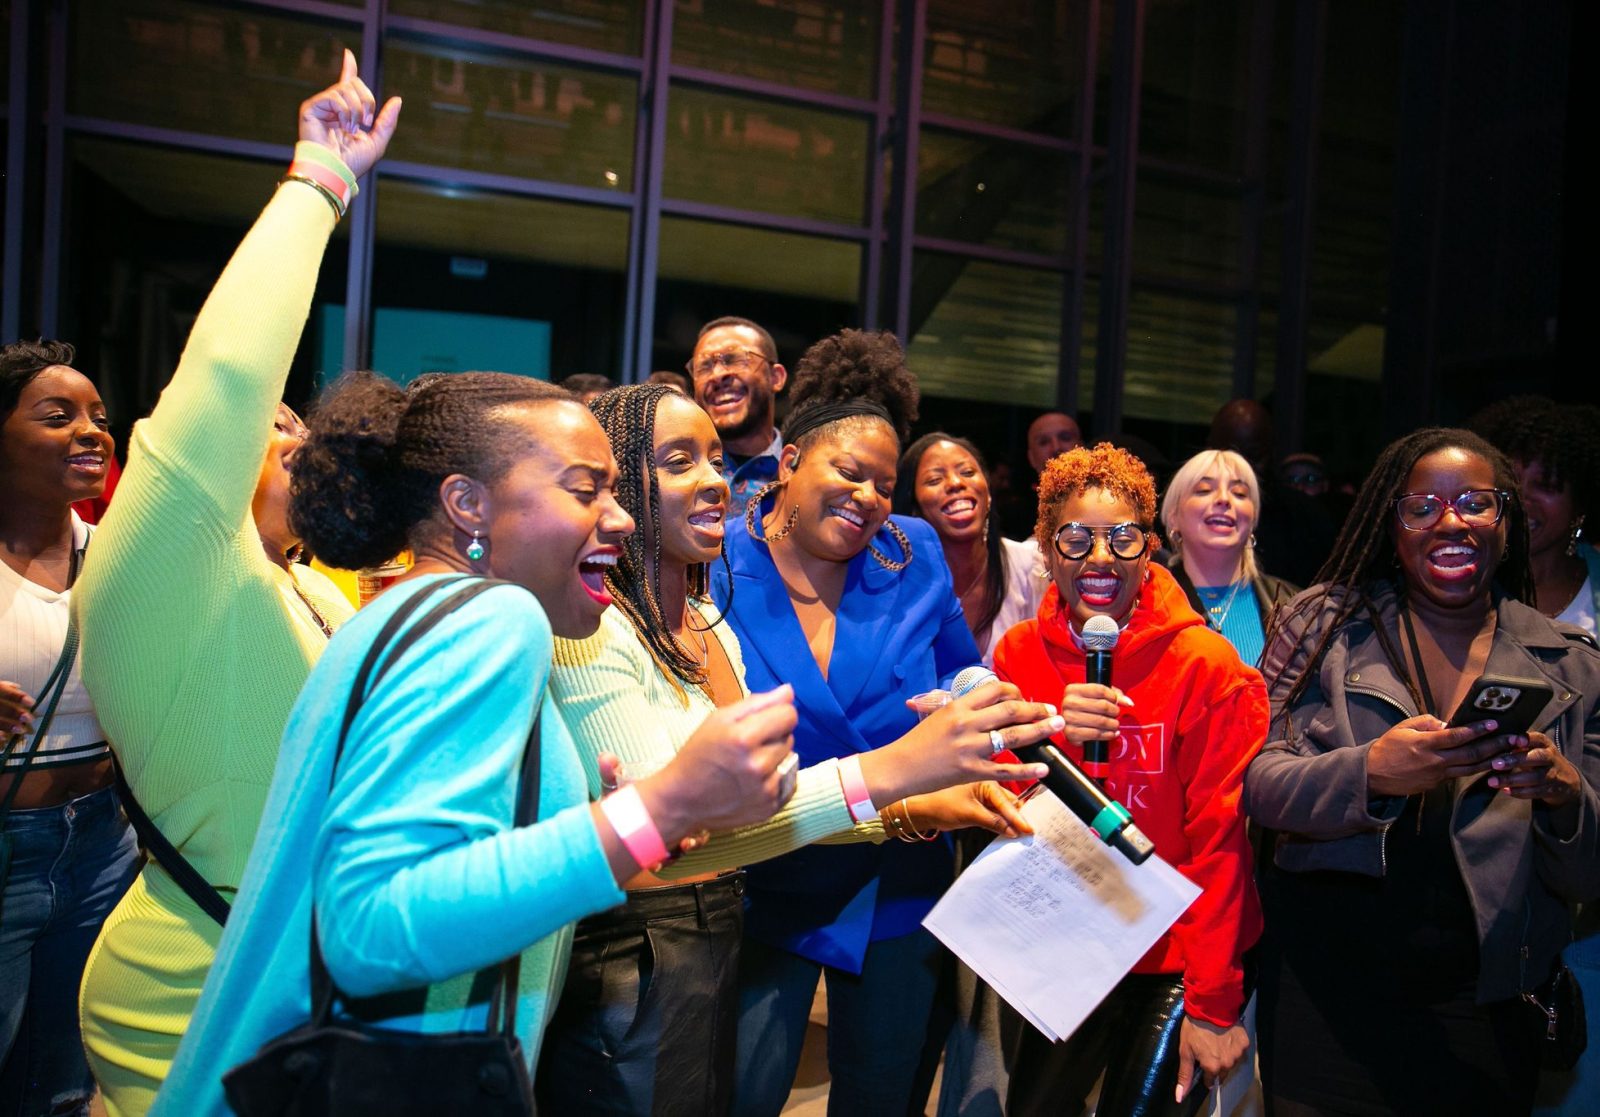
[[[338,567],[402,547],[416,563],[339,632],[294,707],[162,1112],[221,1117],[219,1075],[306,1021],[314,912],[341,1011],[382,1027],[482,1029],[482,971],[520,954],[531,1072],[573,920],[621,903],[618,882],[688,834],[782,803],[786,690],[715,711],[672,763],[590,802],[546,683],[552,637],[594,635],[611,603],[603,575],[634,530],[614,480],[594,416],[525,376],[437,374],[402,390],[354,373],[323,397],[296,462],[294,523]],[[474,591],[432,627],[400,615]],[[360,666],[397,616],[397,643],[422,632],[392,653],[341,751]],[[538,773],[528,826],[514,823],[518,771]],[[462,1112],[475,1088],[459,1085]]]

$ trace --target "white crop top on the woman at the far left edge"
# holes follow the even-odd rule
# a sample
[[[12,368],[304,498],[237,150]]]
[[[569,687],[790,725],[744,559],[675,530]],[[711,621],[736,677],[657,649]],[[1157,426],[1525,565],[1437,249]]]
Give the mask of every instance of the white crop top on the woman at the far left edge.
[[[72,514],[72,546],[88,546],[93,528]],[[16,683],[37,703],[35,717],[43,717],[45,699],[40,691],[56,669],[61,648],[67,642],[67,619],[72,591],[45,589],[0,562],[0,679]],[[16,752],[26,754],[32,733],[22,736]],[[61,704],[50,722],[50,731],[38,743],[34,768],[78,763],[104,755],[106,731],[94,717],[94,703],[83,688],[82,650],[78,663],[72,664]],[[21,767],[19,755],[6,757],[6,768]]]

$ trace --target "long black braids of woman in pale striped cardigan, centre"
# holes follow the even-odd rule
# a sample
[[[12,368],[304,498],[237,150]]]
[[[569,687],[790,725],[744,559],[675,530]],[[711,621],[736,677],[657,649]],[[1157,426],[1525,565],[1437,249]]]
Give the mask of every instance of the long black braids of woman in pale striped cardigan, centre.
[[[640,643],[651,658],[685,687],[709,687],[706,664],[672,635],[672,626],[661,610],[661,485],[656,474],[656,410],[661,400],[678,395],[666,384],[634,384],[614,387],[589,402],[600,421],[611,454],[616,458],[616,501],[640,531],[622,539],[622,555],[605,575],[614,605],[632,623]],[[728,552],[723,550],[723,565]],[[733,579],[730,578],[730,586]],[[690,597],[706,597],[709,591],[706,563],[688,570]],[[722,618],[712,627],[722,624]]]

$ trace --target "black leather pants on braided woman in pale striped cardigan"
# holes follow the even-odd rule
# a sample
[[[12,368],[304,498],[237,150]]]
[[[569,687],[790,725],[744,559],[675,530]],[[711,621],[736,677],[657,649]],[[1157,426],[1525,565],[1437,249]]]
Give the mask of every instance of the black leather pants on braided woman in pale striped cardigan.
[[[539,1051],[539,1112],[726,1114],[742,931],[742,872],[630,891],[578,923]]]

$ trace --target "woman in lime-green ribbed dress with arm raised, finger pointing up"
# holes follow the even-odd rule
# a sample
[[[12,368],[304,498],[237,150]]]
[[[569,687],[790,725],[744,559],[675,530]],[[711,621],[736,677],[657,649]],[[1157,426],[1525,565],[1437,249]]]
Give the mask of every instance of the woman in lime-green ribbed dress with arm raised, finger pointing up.
[[[290,707],[350,615],[291,560],[288,469],[304,427],[280,397],[328,237],[398,117],[398,99],[379,112],[349,51],[339,83],[301,106],[290,173],[134,426],[74,594],[83,679],[130,815],[142,808],[224,898],[245,872]],[[90,955],[83,1042],[114,1117],[149,1107],[189,1024],[222,935],[202,903],[152,858]]]

